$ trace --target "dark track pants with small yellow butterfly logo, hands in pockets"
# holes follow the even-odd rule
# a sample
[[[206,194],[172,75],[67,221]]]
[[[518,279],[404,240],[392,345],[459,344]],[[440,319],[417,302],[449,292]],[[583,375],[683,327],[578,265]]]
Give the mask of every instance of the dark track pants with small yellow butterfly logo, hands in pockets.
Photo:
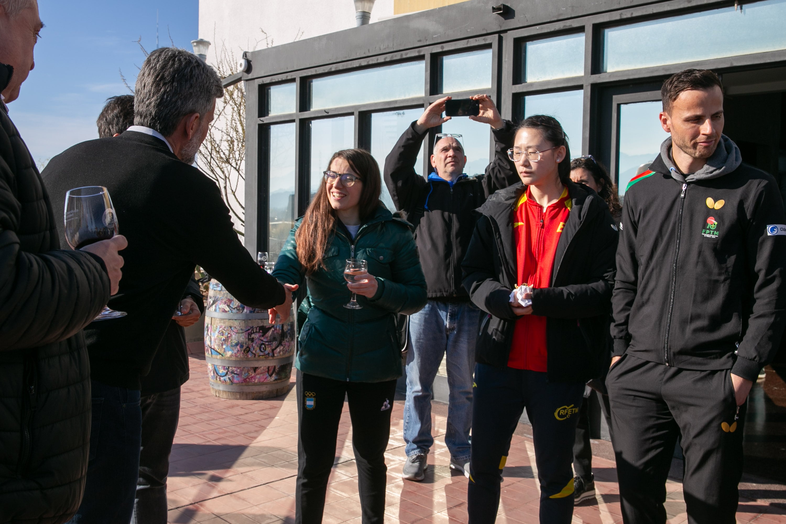
[[[606,378],[626,524],[666,522],[666,479],[682,436],[691,524],[733,524],[745,407],[728,369],[679,369],[625,355]]]

